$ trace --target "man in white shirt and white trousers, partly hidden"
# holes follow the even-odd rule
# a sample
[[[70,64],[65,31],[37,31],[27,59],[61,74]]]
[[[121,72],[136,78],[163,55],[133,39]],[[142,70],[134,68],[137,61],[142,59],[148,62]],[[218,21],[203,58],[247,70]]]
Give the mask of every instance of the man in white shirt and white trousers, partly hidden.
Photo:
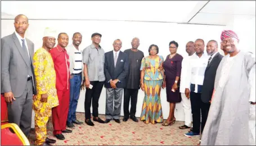
[[[181,68],[181,84],[179,87],[179,92],[181,92],[182,98],[182,106],[185,113],[185,124],[183,126],[179,126],[179,129],[188,129],[191,127],[192,121],[192,113],[191,113],[191,103],[190,97],[186,97],[185,95],[185,84],[186,84],[186,77],[187,77],[187,67],[190,61],[190,57],[195,55],[195,46],[194,42],[190,41],[186,44],[186,52],[188,54],[187,57],[184,57],[182,60],[182,68]]]

